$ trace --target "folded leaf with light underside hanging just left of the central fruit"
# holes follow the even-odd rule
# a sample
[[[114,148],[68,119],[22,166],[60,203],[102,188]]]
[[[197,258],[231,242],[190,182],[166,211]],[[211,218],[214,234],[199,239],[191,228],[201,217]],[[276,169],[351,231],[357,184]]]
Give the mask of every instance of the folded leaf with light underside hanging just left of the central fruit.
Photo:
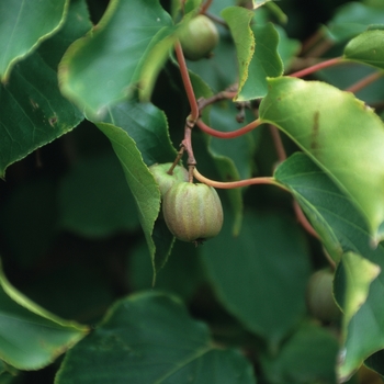
[[[111,126],[110,124],[97,125],[110,138],[122,162],[131,191],[139,207],[139,219],[146,235],[154,270],[158,270],[167,260],[173,236],[163,221],[155,222],[160,208],[160,194],[146,165],[171,162],[177,156],[170,142],[166,115],[151,103],[133,100],[109,109],[104,122],[113,124],[114,134],[106,128]],[[126,148],[123,149],[124,147]]]

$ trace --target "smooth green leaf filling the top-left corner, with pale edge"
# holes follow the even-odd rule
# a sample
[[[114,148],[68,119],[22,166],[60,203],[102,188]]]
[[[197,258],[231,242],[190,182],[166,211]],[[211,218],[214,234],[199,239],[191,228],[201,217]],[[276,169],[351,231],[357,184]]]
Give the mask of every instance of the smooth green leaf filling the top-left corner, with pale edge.
[[[55,34],[65,21],[68,0],[3,0],[0,3],[0,80],[39,43]]]

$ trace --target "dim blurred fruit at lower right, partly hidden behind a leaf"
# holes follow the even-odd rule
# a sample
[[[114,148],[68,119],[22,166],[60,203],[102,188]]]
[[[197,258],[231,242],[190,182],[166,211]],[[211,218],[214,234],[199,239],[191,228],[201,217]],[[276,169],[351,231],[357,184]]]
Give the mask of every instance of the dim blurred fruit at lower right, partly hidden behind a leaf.
[[[307,307],[309,313],[320,321],[330,323],[340,317],[334,295],[334,274],[329,270],[315,272],[307,286]]]

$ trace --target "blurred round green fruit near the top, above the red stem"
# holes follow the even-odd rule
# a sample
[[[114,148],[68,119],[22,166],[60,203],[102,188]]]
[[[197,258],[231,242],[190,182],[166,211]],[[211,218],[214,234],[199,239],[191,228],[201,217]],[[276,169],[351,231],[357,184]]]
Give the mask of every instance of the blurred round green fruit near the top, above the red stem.
[[[208,57],[218,43],[218,32],[214,22],[199,14],[181,32],[180,44],[184,56],[190,60]]]

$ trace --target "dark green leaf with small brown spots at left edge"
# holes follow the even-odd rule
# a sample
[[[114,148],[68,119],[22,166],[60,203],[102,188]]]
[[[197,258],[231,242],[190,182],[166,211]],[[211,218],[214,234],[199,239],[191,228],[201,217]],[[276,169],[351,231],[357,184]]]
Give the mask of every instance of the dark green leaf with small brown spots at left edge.
[[[59,92],[56,68],[67,46],[89,26],[84,2],[74,1],[63,30],[21,61],[0,87],[0,177],[4,177],[9,165],[82,120],[82,114]]]

